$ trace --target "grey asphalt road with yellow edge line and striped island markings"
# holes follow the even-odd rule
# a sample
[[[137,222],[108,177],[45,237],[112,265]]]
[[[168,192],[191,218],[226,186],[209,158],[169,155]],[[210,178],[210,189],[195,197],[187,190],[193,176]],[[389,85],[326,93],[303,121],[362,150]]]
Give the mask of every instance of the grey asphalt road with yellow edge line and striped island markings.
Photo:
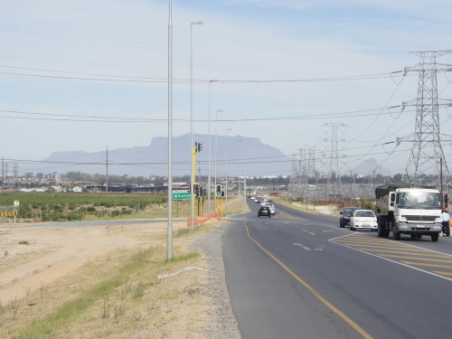
[[[226,281],[243,339],[450,338],[452,239],[381,239],[276,206],[229,219]]]

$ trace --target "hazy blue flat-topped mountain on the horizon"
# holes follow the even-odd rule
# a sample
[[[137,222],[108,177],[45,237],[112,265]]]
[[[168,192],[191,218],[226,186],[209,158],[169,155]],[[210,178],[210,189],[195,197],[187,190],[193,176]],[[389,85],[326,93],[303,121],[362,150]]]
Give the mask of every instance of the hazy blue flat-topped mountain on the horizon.
[[[202,151],[196,154],[196,174],[208,173],[208,136],[195,135],[195,142],[202,143]],[[226,172],[226,152],[228,153],[228,176],[278,176],[290,174],[290,159],[278,148],[262,144],[257,137],[211,136],[211,174],[215,175],[215,152],[217,176]],[[108,150],[108,174],[115,175],[167,175],[167,137],[155,137],[150,146],[118,148]],[[43,159],[59,163],[49,172],[66,173],[78,171],[86,174],[105,174],[107,152],[87,153],[84,151],[53,152]],[[62,163],[62,164],[61,164]],[[173,174],[190,174],[190,135],[173,137]],[[239,172],[240,167],[240,172]]]

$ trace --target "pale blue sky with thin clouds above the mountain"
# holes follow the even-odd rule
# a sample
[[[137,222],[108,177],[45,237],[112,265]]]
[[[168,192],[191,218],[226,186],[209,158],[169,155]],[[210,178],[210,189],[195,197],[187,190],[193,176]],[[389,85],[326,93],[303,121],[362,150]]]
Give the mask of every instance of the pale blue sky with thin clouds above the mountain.
[[[52,152],[167,137],[168,4],[0,0],[5,161],[35,161],[39,172]],[[229,136],[258,137],[293,158],[311,149],[320,169],[337,155],[341,173],[371,157],[382,174],[404,172],[410,143],[395,141],[415,131],[415,109],[401,105],[417,97],[419,73],[403,71],[419,64],[413,52],[452,50],[450,1],[172,4],[174,136],[191,132],[193,113],[196,134],[231,128]],[[452,53],[438,62],[452,64]],[[450,81],[438,72],[440,98],[451,98]],[[444,134],[451,109],[439,110]],[[452,164],[451,143],[443,149]]]

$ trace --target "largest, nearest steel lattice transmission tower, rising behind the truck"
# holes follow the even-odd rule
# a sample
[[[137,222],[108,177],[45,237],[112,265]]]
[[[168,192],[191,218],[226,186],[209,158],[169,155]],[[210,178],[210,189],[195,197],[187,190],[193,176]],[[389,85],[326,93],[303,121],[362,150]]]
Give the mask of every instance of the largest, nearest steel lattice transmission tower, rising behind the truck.
[[[411,184],[436,185],[446,191],[450,186],[450,174],[441,146],[438,108],[450,106],[452,100],[438,99],[437,73],[450,70],[450,66],[438,64],[437,57],[449,52],[414,52],[419,55],[420,63],[405,71],[419,72],[418,98],[402,105],[403,108],[416,107],[415,132],[406,137],[412,146],[404,179]]]

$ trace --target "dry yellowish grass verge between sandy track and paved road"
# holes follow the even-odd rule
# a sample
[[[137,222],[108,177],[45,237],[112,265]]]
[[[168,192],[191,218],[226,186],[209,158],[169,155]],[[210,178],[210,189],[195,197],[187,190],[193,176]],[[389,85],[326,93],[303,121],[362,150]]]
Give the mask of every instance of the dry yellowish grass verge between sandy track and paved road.
[[[229,212],[243,212],[231,199]],[[167,261],[165,233],[149,246],[113,250],[42,286],[26,297],[0,304],[0,338],[207,338],[218,326],[209,317],[216,307],[206,293],[207,260],[193,240],[221,226],[208,221],[174,230],[174,259]],[[181,231],[177,231],[177,229]],[[24,245],[21,245],[24,246]]]

